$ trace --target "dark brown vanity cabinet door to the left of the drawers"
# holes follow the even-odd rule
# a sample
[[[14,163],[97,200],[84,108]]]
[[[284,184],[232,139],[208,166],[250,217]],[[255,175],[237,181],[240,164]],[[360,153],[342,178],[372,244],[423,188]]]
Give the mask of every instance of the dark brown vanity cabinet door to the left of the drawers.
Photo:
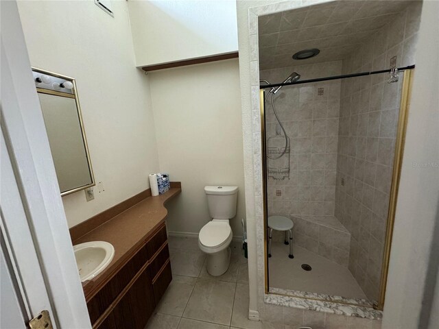
[[[112,319],[108,324],[115,324],[115,329],[143,329],[155,307],[150,269],[147,268],[112,310],[110,314]],[[105,327],[100,326],[99,328]],[[108,329],[112,329],[112,327],[108,327]]]

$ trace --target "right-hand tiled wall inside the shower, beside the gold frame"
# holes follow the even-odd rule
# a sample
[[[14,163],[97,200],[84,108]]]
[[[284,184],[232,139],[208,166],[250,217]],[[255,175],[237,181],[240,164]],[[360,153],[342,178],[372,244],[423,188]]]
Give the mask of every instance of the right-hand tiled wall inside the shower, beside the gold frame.
[[[366,71],[369,63],[388,69],[393,56],[397,66],[415,64],[420,8],[415,1],[384,25],[343,60],[342,72]],[[348,268],[370,300],[379,295],[402,75],[398,83],[387,80],[352,78],[340,91],[335,217],[351,233]]]

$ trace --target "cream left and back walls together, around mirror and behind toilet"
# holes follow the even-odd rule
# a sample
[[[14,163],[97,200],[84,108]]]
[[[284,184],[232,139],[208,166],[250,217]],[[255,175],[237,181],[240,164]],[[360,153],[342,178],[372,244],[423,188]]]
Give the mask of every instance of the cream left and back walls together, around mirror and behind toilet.
[[[91,1],[19,2],[32,65],[76,79],[95,180],[104,185],[102,193],[95,187],[91,202],[83,191],[62,198],[69,227],[145,190],[147,174],[163,171],[185,186],[169,204],[170,231],[200,232],[210,220],[204,186],[230,184],[239,186],[231,226],[241,236],[238,61],[145,76],[135,67],[128,5],[113,5],[114,18]],[[63,33],[53,26],[62,26]]]

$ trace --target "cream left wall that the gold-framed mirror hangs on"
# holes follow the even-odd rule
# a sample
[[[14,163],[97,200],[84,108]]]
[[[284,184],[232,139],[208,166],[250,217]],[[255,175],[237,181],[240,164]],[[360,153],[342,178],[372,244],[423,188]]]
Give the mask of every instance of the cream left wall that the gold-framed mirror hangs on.
[[[32,66],[76,78],[96,182],[62,198],[69,227],[149,188],[158,171],[148,80],[136,68],[126,1],[19,1]],[[58,27],[58,28],[57,28]]]

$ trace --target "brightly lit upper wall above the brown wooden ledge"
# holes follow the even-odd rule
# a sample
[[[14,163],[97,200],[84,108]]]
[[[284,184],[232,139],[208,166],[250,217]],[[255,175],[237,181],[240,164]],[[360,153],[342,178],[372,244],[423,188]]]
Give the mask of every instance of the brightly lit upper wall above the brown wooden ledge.
[[[234,0],[128,1],[137,66],[237,51]]]

